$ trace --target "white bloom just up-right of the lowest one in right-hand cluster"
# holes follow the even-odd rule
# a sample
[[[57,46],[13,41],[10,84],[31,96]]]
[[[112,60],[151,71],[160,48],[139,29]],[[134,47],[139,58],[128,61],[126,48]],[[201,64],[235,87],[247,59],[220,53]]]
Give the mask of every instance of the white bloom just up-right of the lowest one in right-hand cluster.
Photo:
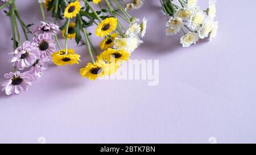
[[[212,31],[212,29],[213,29],[213,26],[214,26],[213,19],[211,19],[211,18],[205,19],[203,25],[201,26],[201,28],[199,30],[199,37],[201,39],[208,37],[210,31]]]

